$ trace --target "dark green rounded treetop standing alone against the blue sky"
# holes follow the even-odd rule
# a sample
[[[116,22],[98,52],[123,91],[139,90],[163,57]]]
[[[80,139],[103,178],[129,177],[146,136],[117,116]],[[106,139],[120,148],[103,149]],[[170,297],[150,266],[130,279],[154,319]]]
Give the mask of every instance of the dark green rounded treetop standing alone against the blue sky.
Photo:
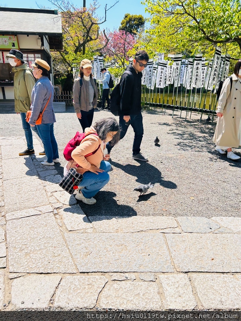
[[[145,19],[141,14],[129,14],[126,13],[124,19],[121,21],[119,30],[123,30],[128,33],[137,33],[145,25]]]

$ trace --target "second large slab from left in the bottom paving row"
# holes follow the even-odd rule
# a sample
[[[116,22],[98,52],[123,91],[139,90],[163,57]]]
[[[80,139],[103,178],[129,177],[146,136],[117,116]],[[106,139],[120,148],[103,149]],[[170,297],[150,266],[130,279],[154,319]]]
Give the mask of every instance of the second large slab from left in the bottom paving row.
[[[108,279],[104,276],[66,276],[56,291],[54,307],[63,309],[94,308]]]

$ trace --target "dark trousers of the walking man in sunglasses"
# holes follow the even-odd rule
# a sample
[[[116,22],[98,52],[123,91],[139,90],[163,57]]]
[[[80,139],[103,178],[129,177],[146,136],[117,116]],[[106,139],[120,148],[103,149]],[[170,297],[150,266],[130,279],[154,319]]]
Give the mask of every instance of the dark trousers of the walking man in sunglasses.
[[[139,112],[139,114],[137,114],[137,115],[130,115],[130,124],[129,125],[126,125],[126,122],[125,122],[123,116],[120,116],[119,125],[121,127],[121,139],[125,136],[129,125],[133,128],[135,136],[134,136],[134,142],[133,142],[133,146],[132,146],[132,152],[134,155],[139,154],[140,144],[141,144],[142,137],[144,134],[141,112]],[[114,146],[111,145],[111,142],[106,144],[106,148],[107,148],[108,153],[111,152],[113,147]]]

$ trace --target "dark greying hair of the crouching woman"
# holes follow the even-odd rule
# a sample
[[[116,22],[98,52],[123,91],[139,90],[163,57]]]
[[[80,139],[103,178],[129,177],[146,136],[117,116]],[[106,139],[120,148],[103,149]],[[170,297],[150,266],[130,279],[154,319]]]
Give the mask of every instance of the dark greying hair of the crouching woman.
[[[112,140],[111,145],[115,145],[120,140],[120,127],[117,120],[113,117],[103,118],[94,124],[94,129],[101,140],[105,140],[109,132],[117,132]]]

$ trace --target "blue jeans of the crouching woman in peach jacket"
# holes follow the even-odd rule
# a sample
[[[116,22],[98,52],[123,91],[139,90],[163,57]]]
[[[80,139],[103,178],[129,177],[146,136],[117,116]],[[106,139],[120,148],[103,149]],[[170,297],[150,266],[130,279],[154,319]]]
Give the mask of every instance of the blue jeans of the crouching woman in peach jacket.
[[[100,169],[103,169],[104,172],[98,173],[98,175],[89,170],[83,174],[79,187],[84,187],[81,192],[86,198],[93,197],[110,180],[108,172],[111,169],[111,164],[108,161],[102,160]]]

